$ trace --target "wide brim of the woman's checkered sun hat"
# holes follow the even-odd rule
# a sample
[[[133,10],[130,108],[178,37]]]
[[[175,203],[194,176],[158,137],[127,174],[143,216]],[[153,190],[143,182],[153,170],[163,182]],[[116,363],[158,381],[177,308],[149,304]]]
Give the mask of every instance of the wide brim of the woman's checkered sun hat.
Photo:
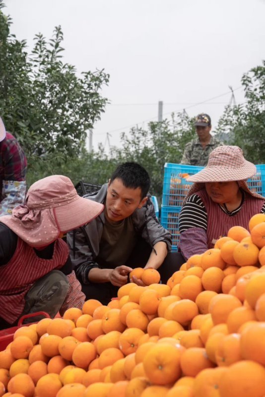
[[[245,160],[241,168],[207,166],[197,174],[187,178],[188,182],[229,182],[242,181],[256,174],[256,166]]]

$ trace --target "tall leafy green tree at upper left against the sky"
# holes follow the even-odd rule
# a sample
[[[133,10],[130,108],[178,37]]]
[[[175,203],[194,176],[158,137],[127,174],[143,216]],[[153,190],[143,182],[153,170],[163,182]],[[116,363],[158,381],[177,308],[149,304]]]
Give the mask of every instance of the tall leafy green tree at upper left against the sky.
[[[42,160],[63,164],[80,154],[88,129],[100,119],[107,102],[100,90],[109,75],[96,70],[78,77],[74,66],[64,64],[60,26],[49,41],[36,35],[29,55],[10,25],[0,10],[0,115],[23,145],[29,169]]]

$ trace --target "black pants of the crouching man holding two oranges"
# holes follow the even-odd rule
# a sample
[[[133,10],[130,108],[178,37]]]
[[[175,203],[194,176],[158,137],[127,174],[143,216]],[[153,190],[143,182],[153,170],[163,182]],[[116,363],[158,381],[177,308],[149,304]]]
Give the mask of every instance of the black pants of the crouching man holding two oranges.
[[[148,258],[151,254],[151,247],[142,239],[136,244],[131,257],[128,259],[125,265],[130,267],[144,267]],[[179,252],[169,253],[163,264],[159,267],[161,281],[163,284],[167,283],[167,280],[171,275],[179,270],[180,266],[185,263],[185,259]],[[90,283],[83,284],[82,291],[86,296],[86,299],[97,299],[103,305],[107,305],[111,298],[117,296],[119,287],[112,285],[110,282],[104,283]]]

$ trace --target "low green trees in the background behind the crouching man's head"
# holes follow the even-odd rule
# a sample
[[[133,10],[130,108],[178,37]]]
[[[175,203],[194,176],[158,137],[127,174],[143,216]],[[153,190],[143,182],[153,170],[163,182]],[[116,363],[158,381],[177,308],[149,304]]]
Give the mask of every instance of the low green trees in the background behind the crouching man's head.
[[[118,164],[136,161],[146,168],[151,177],[150,192],[160,200],[163,190],[165,162],[179,163],[185,144],[195,136],[194,120],[187,114],[172,115],[171,120],[151,122],[147,129],[133,128],[121,136],[122,148],[112,146],[107,154],[102,146],[92,153],[81,150],[78,157],[65,164],[53,161],[35,167],[30,183],[51,173],[68,176],[74,184],[79,181],[104,184]]]

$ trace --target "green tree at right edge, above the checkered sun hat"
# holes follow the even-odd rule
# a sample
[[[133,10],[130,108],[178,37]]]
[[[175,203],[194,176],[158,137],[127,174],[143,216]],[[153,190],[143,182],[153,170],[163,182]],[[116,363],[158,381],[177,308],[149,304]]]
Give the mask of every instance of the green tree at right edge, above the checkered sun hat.
[[[217,133],[227,142],[240,146],[255,164],[265,163],[265,61],[242,77],[246,102],[227,106],[219,120]]]

